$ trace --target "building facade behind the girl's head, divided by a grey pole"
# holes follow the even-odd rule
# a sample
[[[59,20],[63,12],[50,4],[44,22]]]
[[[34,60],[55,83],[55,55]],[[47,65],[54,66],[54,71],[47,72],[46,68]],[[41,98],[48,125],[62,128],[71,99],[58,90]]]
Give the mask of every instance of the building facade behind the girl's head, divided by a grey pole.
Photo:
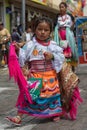
[[[55,20],[61,0],[24,0],[25,27],[33,26],[36,17],[47,16]],[[0,0],[0,21],[12,31],[14,26],[23,24],[23,0]],[[4,11],[3,11],[4,10]]]

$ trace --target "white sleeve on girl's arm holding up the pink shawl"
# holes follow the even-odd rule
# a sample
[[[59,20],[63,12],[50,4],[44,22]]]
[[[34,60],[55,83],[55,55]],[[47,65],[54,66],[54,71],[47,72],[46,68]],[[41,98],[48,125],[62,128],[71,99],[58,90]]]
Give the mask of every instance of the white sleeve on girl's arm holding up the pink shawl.
[[[26,61],[29,61],[31,51],[33,49],[33,42],[25,44],[24,48],[20,48],[19,50],[19,64],[21,67],[25,65]]]

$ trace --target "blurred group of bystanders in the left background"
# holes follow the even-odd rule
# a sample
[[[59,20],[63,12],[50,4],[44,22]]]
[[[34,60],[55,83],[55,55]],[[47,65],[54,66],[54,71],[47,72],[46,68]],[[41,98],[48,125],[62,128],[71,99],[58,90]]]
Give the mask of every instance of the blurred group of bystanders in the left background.
[[[12,33],[4,27],[3,22],[0,22],[0,66],[5,67],[8,64],[8,52],[11,42],[16,42],[22,47],[26,42],[32,39],[33,32],[31,27],[27,27],[25,32],[21,32],[19,27],[14,27]]]

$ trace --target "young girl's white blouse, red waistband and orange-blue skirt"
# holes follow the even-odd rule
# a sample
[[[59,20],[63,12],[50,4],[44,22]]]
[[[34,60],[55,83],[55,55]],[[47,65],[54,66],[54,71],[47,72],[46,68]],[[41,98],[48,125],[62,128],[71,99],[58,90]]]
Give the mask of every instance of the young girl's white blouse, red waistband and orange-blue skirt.
[[[54,61],[46,61],[44,52],[54,55]],[[20,50],[19,62],[23,66],[29,61],[30,71],[34,78],[42,78],[43,87],[40,97],[33,104],[24,102],[25,107],[18,105],[20,112],[39,117],[52,117],[62,115],[60,88],[57,80],[57,73],[62,68],[64,55],[62,49],[55,42],[50,41],[48,46],[42,45],[34,38],[33,42],[27,44],[27,50]],[[56,70],[56,71],[55,71]],[[57,72],[57,73],[56,73]]]

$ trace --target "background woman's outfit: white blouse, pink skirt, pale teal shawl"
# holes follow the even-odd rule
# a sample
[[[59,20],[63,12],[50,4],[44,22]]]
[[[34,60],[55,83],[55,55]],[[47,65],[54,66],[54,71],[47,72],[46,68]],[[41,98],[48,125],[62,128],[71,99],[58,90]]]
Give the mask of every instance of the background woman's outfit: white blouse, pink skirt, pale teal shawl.
[[[63,48],[67,63],[76,66],[78,63],[78,50],[74,38],[74,34],[70,29],[72,26],[71,17],[68,14],[58,17],[55,27],[54,41],[60,46],[60,40],[67,40],[67,48]]]

